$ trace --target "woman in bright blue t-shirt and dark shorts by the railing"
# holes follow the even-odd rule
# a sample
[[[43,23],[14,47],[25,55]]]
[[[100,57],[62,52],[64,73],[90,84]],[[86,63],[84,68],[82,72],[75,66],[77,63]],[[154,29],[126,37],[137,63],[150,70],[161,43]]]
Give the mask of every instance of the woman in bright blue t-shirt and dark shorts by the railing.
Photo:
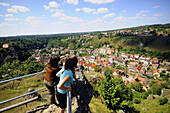
[[[57,100],[60,106],[60,113],[64,113],[67,102],[67,91],[71,91],[70,83],[73,82],[75,67],[77,66],[77,57],[65,59],[64,72],[60,75],[60,81],[57,85]]]

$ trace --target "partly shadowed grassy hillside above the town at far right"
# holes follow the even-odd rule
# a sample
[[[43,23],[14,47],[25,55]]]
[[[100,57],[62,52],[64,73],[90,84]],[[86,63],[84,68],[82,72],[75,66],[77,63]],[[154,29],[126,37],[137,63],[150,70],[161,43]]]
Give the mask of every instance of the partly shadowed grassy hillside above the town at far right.
[[[111,39],[111,45],[124,49],[143,47],[149,51],[170,52],[170,37],[162,36],[125,36]]]

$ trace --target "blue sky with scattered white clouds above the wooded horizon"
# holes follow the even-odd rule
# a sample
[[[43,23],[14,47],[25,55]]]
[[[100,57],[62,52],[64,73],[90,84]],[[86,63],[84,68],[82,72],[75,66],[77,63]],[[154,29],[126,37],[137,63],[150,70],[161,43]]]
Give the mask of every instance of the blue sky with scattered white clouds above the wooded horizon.
[[[170,0],[0,0],[0,37],[170,23]]]

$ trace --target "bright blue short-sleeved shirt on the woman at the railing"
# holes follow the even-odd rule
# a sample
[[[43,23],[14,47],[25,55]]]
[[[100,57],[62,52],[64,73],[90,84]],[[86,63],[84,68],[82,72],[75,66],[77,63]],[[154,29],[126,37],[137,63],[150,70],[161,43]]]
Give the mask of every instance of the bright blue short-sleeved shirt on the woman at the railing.
[[[68,87],[70,85],[70,82],[73,82],[73,73],[71,70],[65,70],[61,75],[60,75],[60,81],[59,81],[59,84],[60,82],[63,80],[63,78],[65,76],[70,76],[71,78],[64,84],[64,87]],[[58,85],[57,85],[57,91],[61,94],[65,94],[67,93],[67,91],[65,90],[61,90],[58,88]]]

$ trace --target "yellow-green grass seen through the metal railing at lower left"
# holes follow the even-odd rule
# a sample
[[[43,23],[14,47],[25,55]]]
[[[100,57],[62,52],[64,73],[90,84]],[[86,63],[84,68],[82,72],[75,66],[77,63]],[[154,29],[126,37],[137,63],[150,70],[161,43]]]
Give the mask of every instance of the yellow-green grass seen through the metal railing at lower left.
[[[20,85],[17,88],[14,87],[13,89],[10,88],[13,83],[12,81],[1,85],[0,86],[0,94],[1,94],[0,101],[2,102],[4,100],[11,99],[11,98],[17,97],[19,95],[26,94],[28,92],[29,88],[31,88],[31,89],[34,88],[35,90],[37,90],[37,89],[44,87],[43,78],[44,78],[44,74],[38,74],[38,75],[35,75],[32,77],[24,78],[21,81]],[[19,81],[15,81],[14,86],[17,86],[18,83],[19,83]],[[44,89],[42,91],[39,91],[38,93],[41,95],[44,95],[44,94],[47,94],[48,91],[46,89]],[[24,101],[25,98],[26,98],[26,96],[21,97],[16,100],[13,100],[13,101],[10,101],[10,102],[7,102],[5,104],[2,104],[2,105],[0,105],[0,109],[14,105],[16,103],[20,103],[20,102]],[[28,103],[27,106],[22,105],[17,108],[5,111],[4,113],[23,113],[23,112],[26,112],[26,111],[29,111],[29,110],[35,108],[36,106],[46,104],[47,101],[48,101],[48,99],[44,99],[41,101],[39,101],[39,100],[33,101],[31,103]]]

